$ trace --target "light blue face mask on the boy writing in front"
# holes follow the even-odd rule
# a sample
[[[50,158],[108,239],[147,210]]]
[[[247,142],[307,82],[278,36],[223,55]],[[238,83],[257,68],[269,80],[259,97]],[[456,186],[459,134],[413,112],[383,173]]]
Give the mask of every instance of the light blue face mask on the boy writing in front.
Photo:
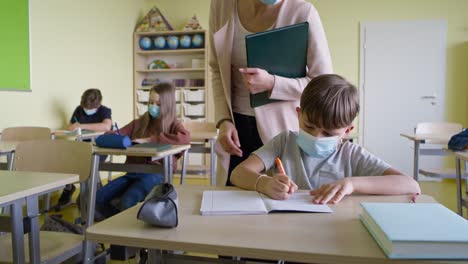
[[[336,151],[338,140],[338,136],[318,138],[300,129],[296,143],[308,156],[327,158]]]

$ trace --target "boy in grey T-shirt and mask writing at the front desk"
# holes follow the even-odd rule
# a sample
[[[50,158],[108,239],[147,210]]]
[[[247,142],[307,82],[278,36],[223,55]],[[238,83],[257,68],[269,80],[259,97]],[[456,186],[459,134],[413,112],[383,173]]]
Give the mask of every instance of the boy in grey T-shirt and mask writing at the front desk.
[[[255,151],[232,173],[234,185],[273,199],[312,190],[312,202],[338,203],[345,195],[420,193],[418,183],[359,145],[343,142],[359,112],[356,87],[326,74],[312,79],[296,108],[299,132],[285,131]],[[283,161],[285,174],[263,174]]]

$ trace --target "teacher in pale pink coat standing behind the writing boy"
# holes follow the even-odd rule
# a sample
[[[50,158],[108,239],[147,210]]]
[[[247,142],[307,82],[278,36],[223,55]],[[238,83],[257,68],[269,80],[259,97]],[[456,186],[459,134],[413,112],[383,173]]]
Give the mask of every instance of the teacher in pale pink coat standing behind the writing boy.
[[[247,68],[246,35],[302,22],[309,22],[306,77],[285,78]],[[304,87],[333,69],[320,16],[305,0],[212,0],[209,30],[218,154],[230,155],[224,162],[230,175],[264,142],[284,130],[299,129],[295,109]],[[249,95],[264,91],[281,101],[250,107]],[[226,184],[231,185],[229,177]]]

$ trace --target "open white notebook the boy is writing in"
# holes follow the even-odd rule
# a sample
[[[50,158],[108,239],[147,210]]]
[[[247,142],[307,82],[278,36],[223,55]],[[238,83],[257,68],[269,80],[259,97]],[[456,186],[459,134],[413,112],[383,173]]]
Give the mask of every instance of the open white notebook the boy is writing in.
[[[270,212],[331,213],[327,205],[313,204],[308,192],[296,192],[287,200],[273,200],[254,191],[204,191],[202,215],[268,214]]]

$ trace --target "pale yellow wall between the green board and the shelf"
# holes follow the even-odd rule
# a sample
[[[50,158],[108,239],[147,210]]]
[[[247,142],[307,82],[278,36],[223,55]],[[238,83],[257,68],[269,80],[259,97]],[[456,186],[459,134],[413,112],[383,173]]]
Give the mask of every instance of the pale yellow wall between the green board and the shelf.
[[[132,33],[142,0],[30,0],[32,92],[0,92],[0,128],[63,127],[91,87],[132,116]]]

